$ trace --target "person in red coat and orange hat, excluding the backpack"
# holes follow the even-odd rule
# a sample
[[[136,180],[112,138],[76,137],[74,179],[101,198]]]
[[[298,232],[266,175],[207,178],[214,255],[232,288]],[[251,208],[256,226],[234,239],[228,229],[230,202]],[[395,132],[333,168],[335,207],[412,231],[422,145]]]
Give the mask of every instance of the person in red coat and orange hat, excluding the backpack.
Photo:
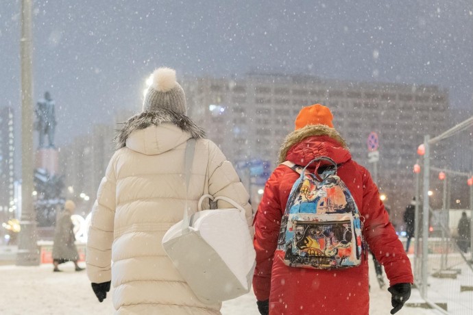
[[[287,136],[279,154],[306,166],[315,157],[326,156],[339,165],[337,175],[345,182],[363,223],[363,237],[376,259],[385,266],[394,314],[411,294],[411,263],[396,235],[378,188],[369,172],[352,160],[345,140],[333,128],[332,114],[323,105],[303,108],[295,121],[295,131]],[[314,171],[310,169],[309,171]],[[289,192],[300,175],[279,165],[269,177],[254,219],[256,269],[253,288],[261,314],[368,314],[368,260],[360,266],[315,270],[286,266],[276,251],[280,222]]]

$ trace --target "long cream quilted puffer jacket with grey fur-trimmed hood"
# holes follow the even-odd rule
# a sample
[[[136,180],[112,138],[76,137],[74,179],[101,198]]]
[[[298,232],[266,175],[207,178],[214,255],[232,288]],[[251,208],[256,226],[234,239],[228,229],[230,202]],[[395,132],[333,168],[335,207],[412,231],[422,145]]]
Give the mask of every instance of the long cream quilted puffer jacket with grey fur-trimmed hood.
[[[249,195],[216,144],[187,116],[162,110],[125,124],[106,170],[88,231],[87,273],[93,283],[112,281],[116,314],[220,314],[221,304],[200,302],[161,246],[182,220],[186,202],[186,140],[197,138],[187,199],[230,197],[246,210]],[[230,205],[219,201],[219,208]]]

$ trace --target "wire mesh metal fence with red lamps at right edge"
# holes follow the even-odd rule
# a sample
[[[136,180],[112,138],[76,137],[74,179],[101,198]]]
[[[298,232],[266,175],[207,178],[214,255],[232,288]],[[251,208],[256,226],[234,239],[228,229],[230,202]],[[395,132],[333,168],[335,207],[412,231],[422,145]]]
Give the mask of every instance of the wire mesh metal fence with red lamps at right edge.
[[[424,162],[422,176],[422,190],[420,188],[420,177],[416,177],[416,209],[415,209],[415,250],[414,250],[414,278],[415,286],[419,288],[421,297],[430,307],[444,314],[470,315],[473,314],[473,244],[463,247],[462,241],[452,235],[448,220],[450,207],[450,192],[444,184],[442,210],[434,212],[429,205],[430,171],[438,171],[439,168],[430,166],[430,145],[437,144],[441,140],[448,139],[460,134],[467,138],[466,143],[471,141],[471,133],[468,129],[473,126],[473,117],[463,121],[459,125],[449,129],[440,136],[430,139],[424,138]],[[468,138],[470,137],[470,138]],[[452,142],[450,138],[448,149],[454,151],[460,147]],[[463,148],[468,150],[470,157],[473,156],[472,145]],[[472,161],[473,162],[473,161]],[[473,163],[472,163],[473,164]],[[472,165],[473,168],[473,165]],[[450,171],[450,175],[464,176],[473,181],[472,168],[468,173]],[[418,173],[418,172],[416,172]],[[446,181],[444,182],[446,183]],[[468,182],[470,184],[470,181]],[[422,193],[421,193],[422,191]],[[422,195],[422,198],[420,196]],[[422,199],[426,201],[422,206],[418,203]],[[448,202],[447,202],[448,201]],[[473,186],[470,186],[470,231],[473,236]],[[437,223],[437,233],[430,235],[430,224],[434,220]],[[470,236],[470,239],[471,239]],[[468,240],[466,241],[468,242]],[[460,245],[460,246],[459,246]]]

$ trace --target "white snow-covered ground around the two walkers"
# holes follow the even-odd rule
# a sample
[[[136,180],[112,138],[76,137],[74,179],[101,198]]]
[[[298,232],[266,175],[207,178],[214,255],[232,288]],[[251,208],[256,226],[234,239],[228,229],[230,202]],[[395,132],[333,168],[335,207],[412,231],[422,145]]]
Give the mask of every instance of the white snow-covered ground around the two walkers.
[[[370,260],[371,262],[371,260]],[[110,297],[99,303],[90,288],[85,271],[75,272],[72,263],[61,266],[64,272],[53,273],[51,264],[35,267],[0,266],[0,314],[54,315],[54,314],[112,314]],[[370,271],[374,268],[370,268]],[[380,290],[374,272],[370,273],[371,303],[369,314],[389,314],[391,295]],[[417,290],[410,301],[422,302]],[[473,296],[469,301],[473,301]],[[258,315],[254,294],[223,303],[223,315]],[[398,314],[439,314],[435,310],[404,307]]]

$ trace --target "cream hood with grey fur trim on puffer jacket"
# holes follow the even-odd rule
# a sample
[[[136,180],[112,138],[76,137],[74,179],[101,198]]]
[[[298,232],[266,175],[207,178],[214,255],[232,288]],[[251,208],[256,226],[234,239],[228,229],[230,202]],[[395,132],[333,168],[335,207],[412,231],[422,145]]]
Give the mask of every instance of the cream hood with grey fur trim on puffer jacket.
[[[141,112],[126,121],[114,138],[117,149],[129,147],[144,154],[159,154],[205,132],[185,114],[167,109]]]

